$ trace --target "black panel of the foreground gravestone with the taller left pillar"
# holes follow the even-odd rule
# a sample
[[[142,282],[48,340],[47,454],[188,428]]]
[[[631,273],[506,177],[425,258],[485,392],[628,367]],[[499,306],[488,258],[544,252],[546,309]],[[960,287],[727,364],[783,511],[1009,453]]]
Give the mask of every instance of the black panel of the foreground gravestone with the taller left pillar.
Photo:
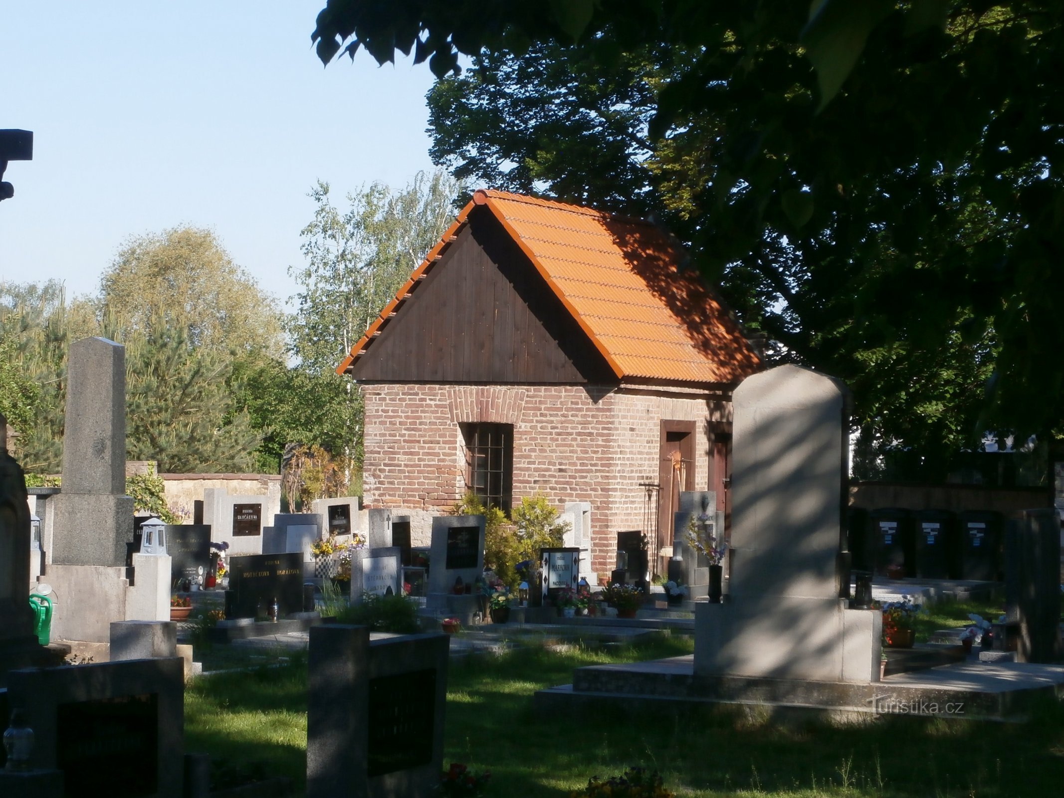
[[[369,680],[369,777],[432,762],[436,671],[415,670]]]

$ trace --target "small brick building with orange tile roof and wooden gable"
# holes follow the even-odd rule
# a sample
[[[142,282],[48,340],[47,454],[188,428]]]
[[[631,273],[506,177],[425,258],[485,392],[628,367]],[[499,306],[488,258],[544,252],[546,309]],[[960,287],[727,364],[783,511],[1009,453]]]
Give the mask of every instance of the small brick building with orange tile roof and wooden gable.
[[[597,572],[620,531],[667,553],[681,489],[725,510],[731,392],[760,361],[683,259],[649,222],[477,192],[337,368],[365,398],[366,505],[420,543],[469,488],[588,501]]]

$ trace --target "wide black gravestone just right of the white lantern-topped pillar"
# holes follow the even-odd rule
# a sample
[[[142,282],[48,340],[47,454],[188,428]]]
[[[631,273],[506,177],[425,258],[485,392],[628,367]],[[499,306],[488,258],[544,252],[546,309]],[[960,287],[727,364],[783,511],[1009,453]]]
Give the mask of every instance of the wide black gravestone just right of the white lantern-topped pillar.
[[[303,610],[303,552],[229,558],[231,618],[254,618],[277,599],[279,616]]]

